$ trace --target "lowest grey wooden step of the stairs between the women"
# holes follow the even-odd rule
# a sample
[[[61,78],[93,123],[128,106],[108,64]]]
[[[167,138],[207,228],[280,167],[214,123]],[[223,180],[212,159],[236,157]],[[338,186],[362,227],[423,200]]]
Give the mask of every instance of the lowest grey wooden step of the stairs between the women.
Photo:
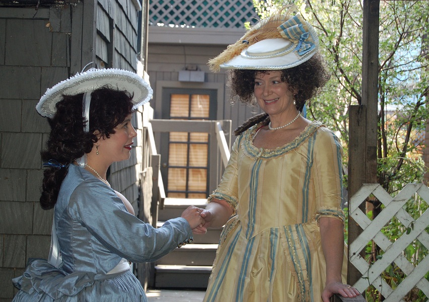
[[[156,265],[156,288],[207,288],[211,266]]]

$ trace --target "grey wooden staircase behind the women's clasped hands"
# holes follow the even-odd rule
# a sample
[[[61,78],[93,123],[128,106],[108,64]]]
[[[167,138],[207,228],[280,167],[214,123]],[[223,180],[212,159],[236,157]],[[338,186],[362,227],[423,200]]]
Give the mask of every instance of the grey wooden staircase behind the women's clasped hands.
[[[206,199],[166,198],[158,213],[158,227],[170,218],[180,217],[190,205],[204,208]],[[222,229],[194,235],[192,244],[176,248],[155,263],[155,288],[205,289],[215,260]]]

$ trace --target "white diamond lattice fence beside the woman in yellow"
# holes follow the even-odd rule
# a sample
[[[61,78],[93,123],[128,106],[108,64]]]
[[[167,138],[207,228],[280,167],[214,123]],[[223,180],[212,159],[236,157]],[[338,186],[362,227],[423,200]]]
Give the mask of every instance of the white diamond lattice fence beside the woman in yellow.
[[[349,215],[364,230],[349,246],[350,262],[362,273],[362,278],[354,284],[364,292],[372,284],[386,299],[385,302],[402,301],[403,297],[417,286],[426,297],[429,297],[429,282],[424,275],[429,270],[429,257],[414,267],[404,256],[403,251],[415,240],[418,240],[426,249],[429,249],[429,235],[426,228],[429,225],[429,209],[414,219],[403,209],[404,204],[417,193],[429,204],[429,189],[423,184],[408,184],[395,197],[390,196],[379,184],[365,184],[350,199]],[[367,197],[373,195],[385,208],[374,219],[370,220],[359,206]],[[390,241],[381,229],[396,217],[407,229],[396,241]],[[360,252],[373,240],[383,251],[382,257],[370,265],[361,257]],[[381,278],[382,272],[395,263],[406,275],[406,278],[393,290],[388,283]],[[426,300],[427,301],[427,300]]]

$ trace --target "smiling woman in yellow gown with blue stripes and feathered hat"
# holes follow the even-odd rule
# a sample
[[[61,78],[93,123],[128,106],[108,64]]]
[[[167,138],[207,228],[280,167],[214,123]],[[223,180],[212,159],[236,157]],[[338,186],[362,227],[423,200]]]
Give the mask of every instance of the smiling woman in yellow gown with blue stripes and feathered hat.
[[[210,61],[232,69],[233,96],[256,99],[264,113],[236,130],[221,184],[201,213],[201,231],[225,224],[204,301],[359,294],[343,283],[341,144],[300,114],[329,74],[314,29],[289,13],[261,21]]]

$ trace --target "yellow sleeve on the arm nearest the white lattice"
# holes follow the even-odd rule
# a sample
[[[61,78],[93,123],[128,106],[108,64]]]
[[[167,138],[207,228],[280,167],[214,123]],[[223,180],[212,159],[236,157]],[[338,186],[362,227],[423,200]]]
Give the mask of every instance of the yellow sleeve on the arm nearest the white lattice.
[[[335,134],[320,127],[314,145],[316,213],[314,219],[334,217],[344,221],[342,201],[342,146]]]

